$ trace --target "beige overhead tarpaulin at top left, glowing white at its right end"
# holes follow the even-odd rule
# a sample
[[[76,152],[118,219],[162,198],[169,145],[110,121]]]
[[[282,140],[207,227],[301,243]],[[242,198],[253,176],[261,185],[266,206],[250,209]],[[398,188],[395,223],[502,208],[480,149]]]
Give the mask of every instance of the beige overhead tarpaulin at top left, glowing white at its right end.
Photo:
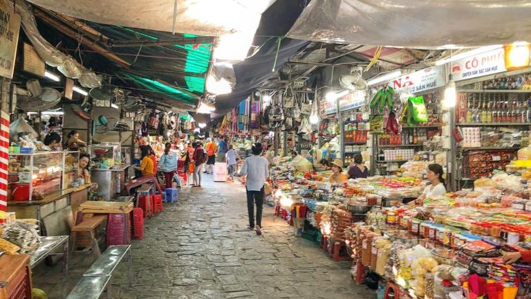
[[[100,24],[219,36],[256,30],[275,0],[29,0],[42,8]]]

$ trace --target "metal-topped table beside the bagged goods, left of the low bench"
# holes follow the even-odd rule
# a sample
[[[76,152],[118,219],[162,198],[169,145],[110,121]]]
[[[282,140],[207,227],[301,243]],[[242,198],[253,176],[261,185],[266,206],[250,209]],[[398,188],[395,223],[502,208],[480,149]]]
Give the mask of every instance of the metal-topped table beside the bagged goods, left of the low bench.
[[[62,246],[63,253],[55,253],[57,248]],[[48,236],[41,237],[41,246],[30,254],[30,266],[31,269],[38,266],[42,261],[51,255],[63,256],[63,286],[62,286],[62,298],[65,296],[66,291],[66,278],[68,277],[68,262],[70,262],[70,255],[68,255],[68,236]]]

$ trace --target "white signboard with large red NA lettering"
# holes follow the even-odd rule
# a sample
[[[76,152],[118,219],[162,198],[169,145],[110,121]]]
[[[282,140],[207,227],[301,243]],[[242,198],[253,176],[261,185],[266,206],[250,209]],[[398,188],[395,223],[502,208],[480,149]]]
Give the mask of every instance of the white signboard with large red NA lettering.
[[[444,66],[431,66],[420,71],[401,75],[387,83],[395,90],[409,88],[411,93],[419,93],[429,89],[436,89],[446,85]]]

